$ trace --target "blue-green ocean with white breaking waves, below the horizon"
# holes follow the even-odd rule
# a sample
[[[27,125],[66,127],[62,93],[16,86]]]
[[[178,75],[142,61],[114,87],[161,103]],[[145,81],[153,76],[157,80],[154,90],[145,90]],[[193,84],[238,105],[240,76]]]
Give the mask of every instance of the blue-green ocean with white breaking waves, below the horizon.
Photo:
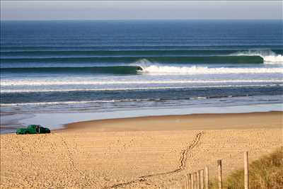
[[[282,104],[282,30],[277,20],[1,21],[1,125]]]

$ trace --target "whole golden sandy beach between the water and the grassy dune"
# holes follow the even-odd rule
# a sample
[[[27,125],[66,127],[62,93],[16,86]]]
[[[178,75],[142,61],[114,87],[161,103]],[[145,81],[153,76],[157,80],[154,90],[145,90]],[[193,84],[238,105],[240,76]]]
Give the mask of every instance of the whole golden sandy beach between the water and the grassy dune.
[[[223,176],[283,145],[283,112],[96,120],[51,134],[1,135],[1,188],[178,188]],[[169,187],[171,186],[171,187]]]

